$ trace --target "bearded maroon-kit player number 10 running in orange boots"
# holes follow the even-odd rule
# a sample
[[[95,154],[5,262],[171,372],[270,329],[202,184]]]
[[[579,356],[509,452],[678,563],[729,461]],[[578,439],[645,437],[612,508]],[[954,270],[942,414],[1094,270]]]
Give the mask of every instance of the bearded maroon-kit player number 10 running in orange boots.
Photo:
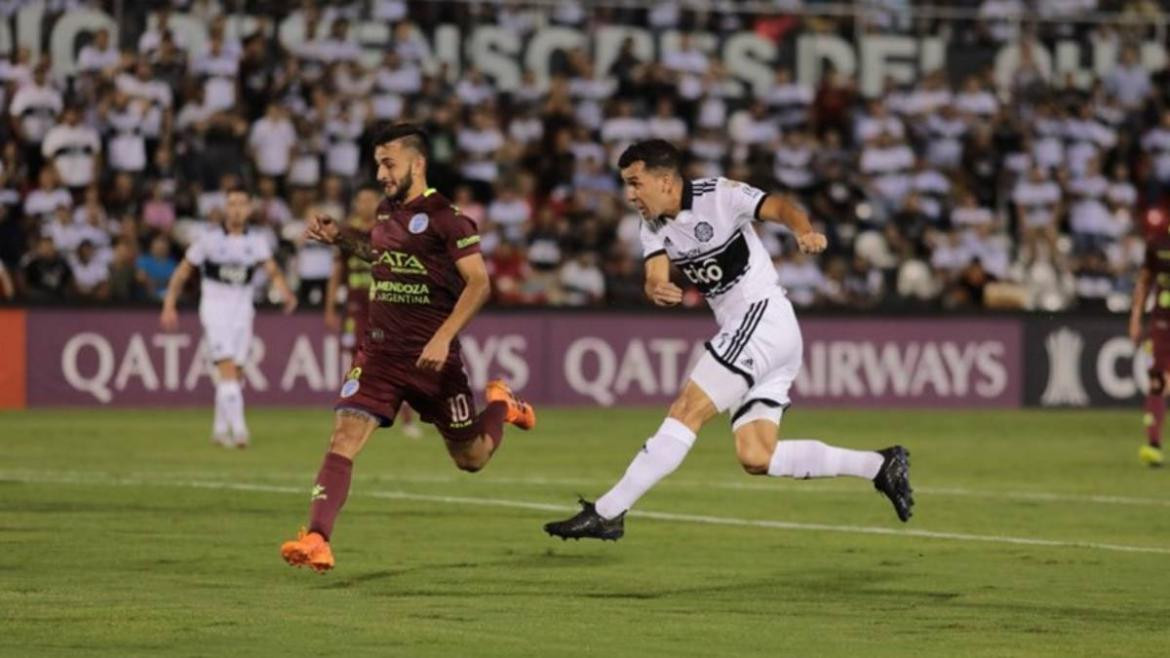
[[[384,129],[374,138],[374,160],[386,198],[370,233],[329,217],[309,221],[310,238],[372,263],[370,329],[335,405],[309,529],[281,547],[289,564],[333,567],[329,541],[353,459],[374,430],[390,426],[402,402],[438,427],[463,471],[479,471],[491,459],[504,423],[523,430],[536,424],[532,407],[498,381],[488,383],[488,405],[475,413],[457,335],[487,301],[490,283],[475,224],[427,187],[428,152],[418,128]]]

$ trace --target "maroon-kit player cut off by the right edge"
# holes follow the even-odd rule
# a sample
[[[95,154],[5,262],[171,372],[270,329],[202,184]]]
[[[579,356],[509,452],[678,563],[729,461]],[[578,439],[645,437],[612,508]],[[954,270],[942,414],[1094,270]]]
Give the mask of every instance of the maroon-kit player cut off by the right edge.
[[[1161,218],[1159,218],[1161,219]],[[1129,313],[1129,337],[1135,345],[1142,340],[1142,315],[1145,301],[1154,293],[1148,329],[1154,352],[1150,365],[1150,390],[1145,393],[1145,445],[1138,459],[1149,466],[1162,466],[1162,421],[1166,414],[1166,375],[1170,371],[1170,229],[1154,221],[1147,232],[1145,262],[1134,286],[1134,306]]]

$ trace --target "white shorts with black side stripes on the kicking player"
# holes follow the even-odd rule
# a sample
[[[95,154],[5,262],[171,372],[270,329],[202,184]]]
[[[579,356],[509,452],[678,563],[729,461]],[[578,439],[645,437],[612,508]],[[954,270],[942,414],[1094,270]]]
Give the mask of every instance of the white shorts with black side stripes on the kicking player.
[[[804,351],[792,302],[784,295],[757,301],[706,347],[690,379],[720,412],[730,412],[732,430],[753,420],[778,425]]]

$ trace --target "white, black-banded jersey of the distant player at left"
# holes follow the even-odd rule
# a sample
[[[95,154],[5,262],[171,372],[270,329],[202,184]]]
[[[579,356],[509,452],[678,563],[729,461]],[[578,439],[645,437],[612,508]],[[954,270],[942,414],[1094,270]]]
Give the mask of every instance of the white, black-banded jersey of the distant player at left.
[[[200,315],[228,320],[254,313],[253,275],[273,258],[273,251],[256,232],[212,228],[187,247],[184,258],[202,276]]]

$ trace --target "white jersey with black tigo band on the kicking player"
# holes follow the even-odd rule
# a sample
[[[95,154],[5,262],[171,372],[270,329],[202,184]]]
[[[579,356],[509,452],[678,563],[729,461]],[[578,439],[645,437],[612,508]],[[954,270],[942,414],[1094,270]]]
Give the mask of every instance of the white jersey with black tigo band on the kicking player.
[[[721,325],[742,317],[753,302],[784,294],[751,226],[765,197],[727,178],[687,180],[677,217],[642,221],[645,258],[666,254],[707,297]]]

